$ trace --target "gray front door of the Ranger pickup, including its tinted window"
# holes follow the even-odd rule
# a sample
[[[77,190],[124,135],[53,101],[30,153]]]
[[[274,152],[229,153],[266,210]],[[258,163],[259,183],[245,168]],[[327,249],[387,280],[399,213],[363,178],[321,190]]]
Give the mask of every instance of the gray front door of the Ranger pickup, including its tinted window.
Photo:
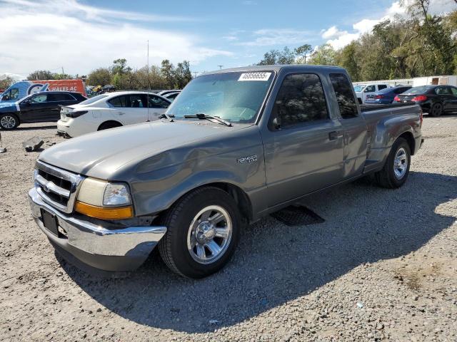
[[[262,133],[269,207],[341,180],[342,127],[316,73],[283,78],[271,121]]]

